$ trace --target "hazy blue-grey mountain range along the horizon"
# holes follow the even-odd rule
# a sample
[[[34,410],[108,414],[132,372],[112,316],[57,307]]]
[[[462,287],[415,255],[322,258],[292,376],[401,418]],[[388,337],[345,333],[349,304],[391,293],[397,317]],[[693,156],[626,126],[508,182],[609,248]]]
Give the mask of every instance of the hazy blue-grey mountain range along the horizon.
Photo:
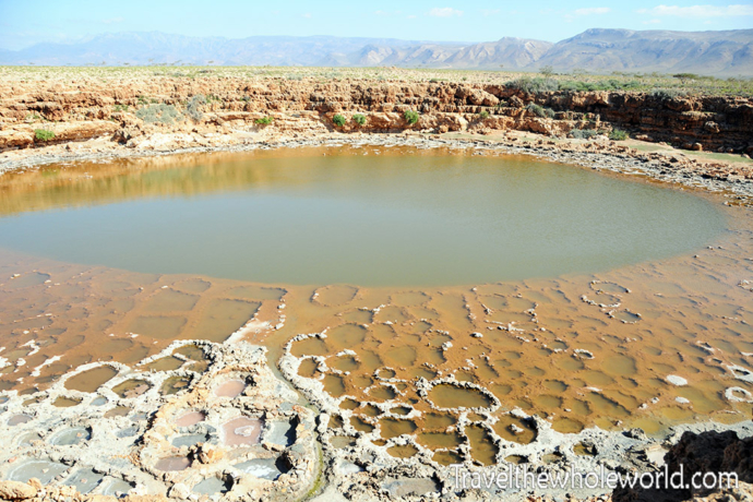
[[[594,73],[690,72],[753,76],[753,29],[666,32],[588,29],[552,44],[504,37],[497,41],[398,40],[342,37],[187,37],[116,33],[74,44],[37,44],[0,50],[0,64],[220,64],[406,67]]]

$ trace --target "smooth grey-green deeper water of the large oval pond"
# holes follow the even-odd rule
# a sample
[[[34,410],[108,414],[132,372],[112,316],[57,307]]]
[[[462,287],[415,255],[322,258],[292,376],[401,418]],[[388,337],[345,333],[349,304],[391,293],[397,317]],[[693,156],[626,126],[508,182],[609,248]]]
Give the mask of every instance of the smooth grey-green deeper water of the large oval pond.
[[[31,189],[10,179],[0,246],[155,274],[428,286],[664,258],[703,244],[724,220],[698,198],[525,157],[306,148],[189,163],[47,168]],[[174,337],[184,320],[163,314],[199,298],[157,297],[155,315],[132,331]],[[253,313],[252,303],[215,301],[222,315],[198,326],[204,336]]]

